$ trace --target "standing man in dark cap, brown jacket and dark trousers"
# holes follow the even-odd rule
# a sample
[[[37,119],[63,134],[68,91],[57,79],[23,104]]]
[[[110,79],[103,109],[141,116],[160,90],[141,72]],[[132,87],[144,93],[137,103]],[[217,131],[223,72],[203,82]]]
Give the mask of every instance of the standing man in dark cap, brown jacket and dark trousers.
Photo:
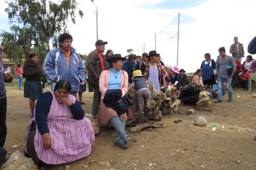
[[[107,41],[103,41],[101,39],[97,40],[95,43],[96,49],[88,54],[87,69],[90,75],[90,82],[94,86],[94,98],[92,108],[93,118],[97,118],[101,101],[101,91],[99,87],[101,72],[108,68],[108,62],[106,62],[106,57],[103,55],[106,44],[108,44]]]

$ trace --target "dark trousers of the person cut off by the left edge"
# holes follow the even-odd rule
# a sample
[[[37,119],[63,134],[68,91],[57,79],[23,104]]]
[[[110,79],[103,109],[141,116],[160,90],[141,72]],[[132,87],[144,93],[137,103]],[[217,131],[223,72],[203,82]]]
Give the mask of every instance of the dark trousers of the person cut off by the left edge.
[[[6,127],[6,111],[7,111],[7,99],[0,99],[0,147],[5,144],[7,127]]]

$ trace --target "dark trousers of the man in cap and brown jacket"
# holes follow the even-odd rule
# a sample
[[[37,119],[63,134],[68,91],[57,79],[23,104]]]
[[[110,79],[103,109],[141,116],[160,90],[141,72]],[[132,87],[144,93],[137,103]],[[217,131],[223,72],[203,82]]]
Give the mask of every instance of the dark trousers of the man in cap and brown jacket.
[[[97,116],[98,111],[99,111],[100,102],[101,102],[101,91],[100,91],[100,86],[99,86],[99,79],[91,78],[90,80],[94,86],[94,99],[93,99],[92,115]]]

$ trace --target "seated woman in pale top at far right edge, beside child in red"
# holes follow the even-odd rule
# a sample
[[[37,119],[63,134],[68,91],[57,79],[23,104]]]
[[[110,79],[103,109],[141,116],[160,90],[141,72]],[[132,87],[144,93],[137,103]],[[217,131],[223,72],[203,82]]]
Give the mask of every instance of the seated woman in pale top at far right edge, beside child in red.
[[[255,72],[256,72],[256,61],[252,59],[251,55],[248,55],[246,57],[246,60],[243,62],[241,73],[238,75],[240,80],[242,81],[242,73],[243,71],[247,69],[250,71],[250,78],[248,78],[248,92],[251,92],[251,80],[256,80]]]

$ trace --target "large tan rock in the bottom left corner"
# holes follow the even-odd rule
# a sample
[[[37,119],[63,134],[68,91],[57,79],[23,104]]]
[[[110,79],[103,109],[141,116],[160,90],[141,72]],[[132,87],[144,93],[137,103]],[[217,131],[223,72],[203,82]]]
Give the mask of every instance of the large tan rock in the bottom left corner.
[[[2,170],[38,170],[34,161],[25,157],[20,150],[14,152],[1,168]]]

